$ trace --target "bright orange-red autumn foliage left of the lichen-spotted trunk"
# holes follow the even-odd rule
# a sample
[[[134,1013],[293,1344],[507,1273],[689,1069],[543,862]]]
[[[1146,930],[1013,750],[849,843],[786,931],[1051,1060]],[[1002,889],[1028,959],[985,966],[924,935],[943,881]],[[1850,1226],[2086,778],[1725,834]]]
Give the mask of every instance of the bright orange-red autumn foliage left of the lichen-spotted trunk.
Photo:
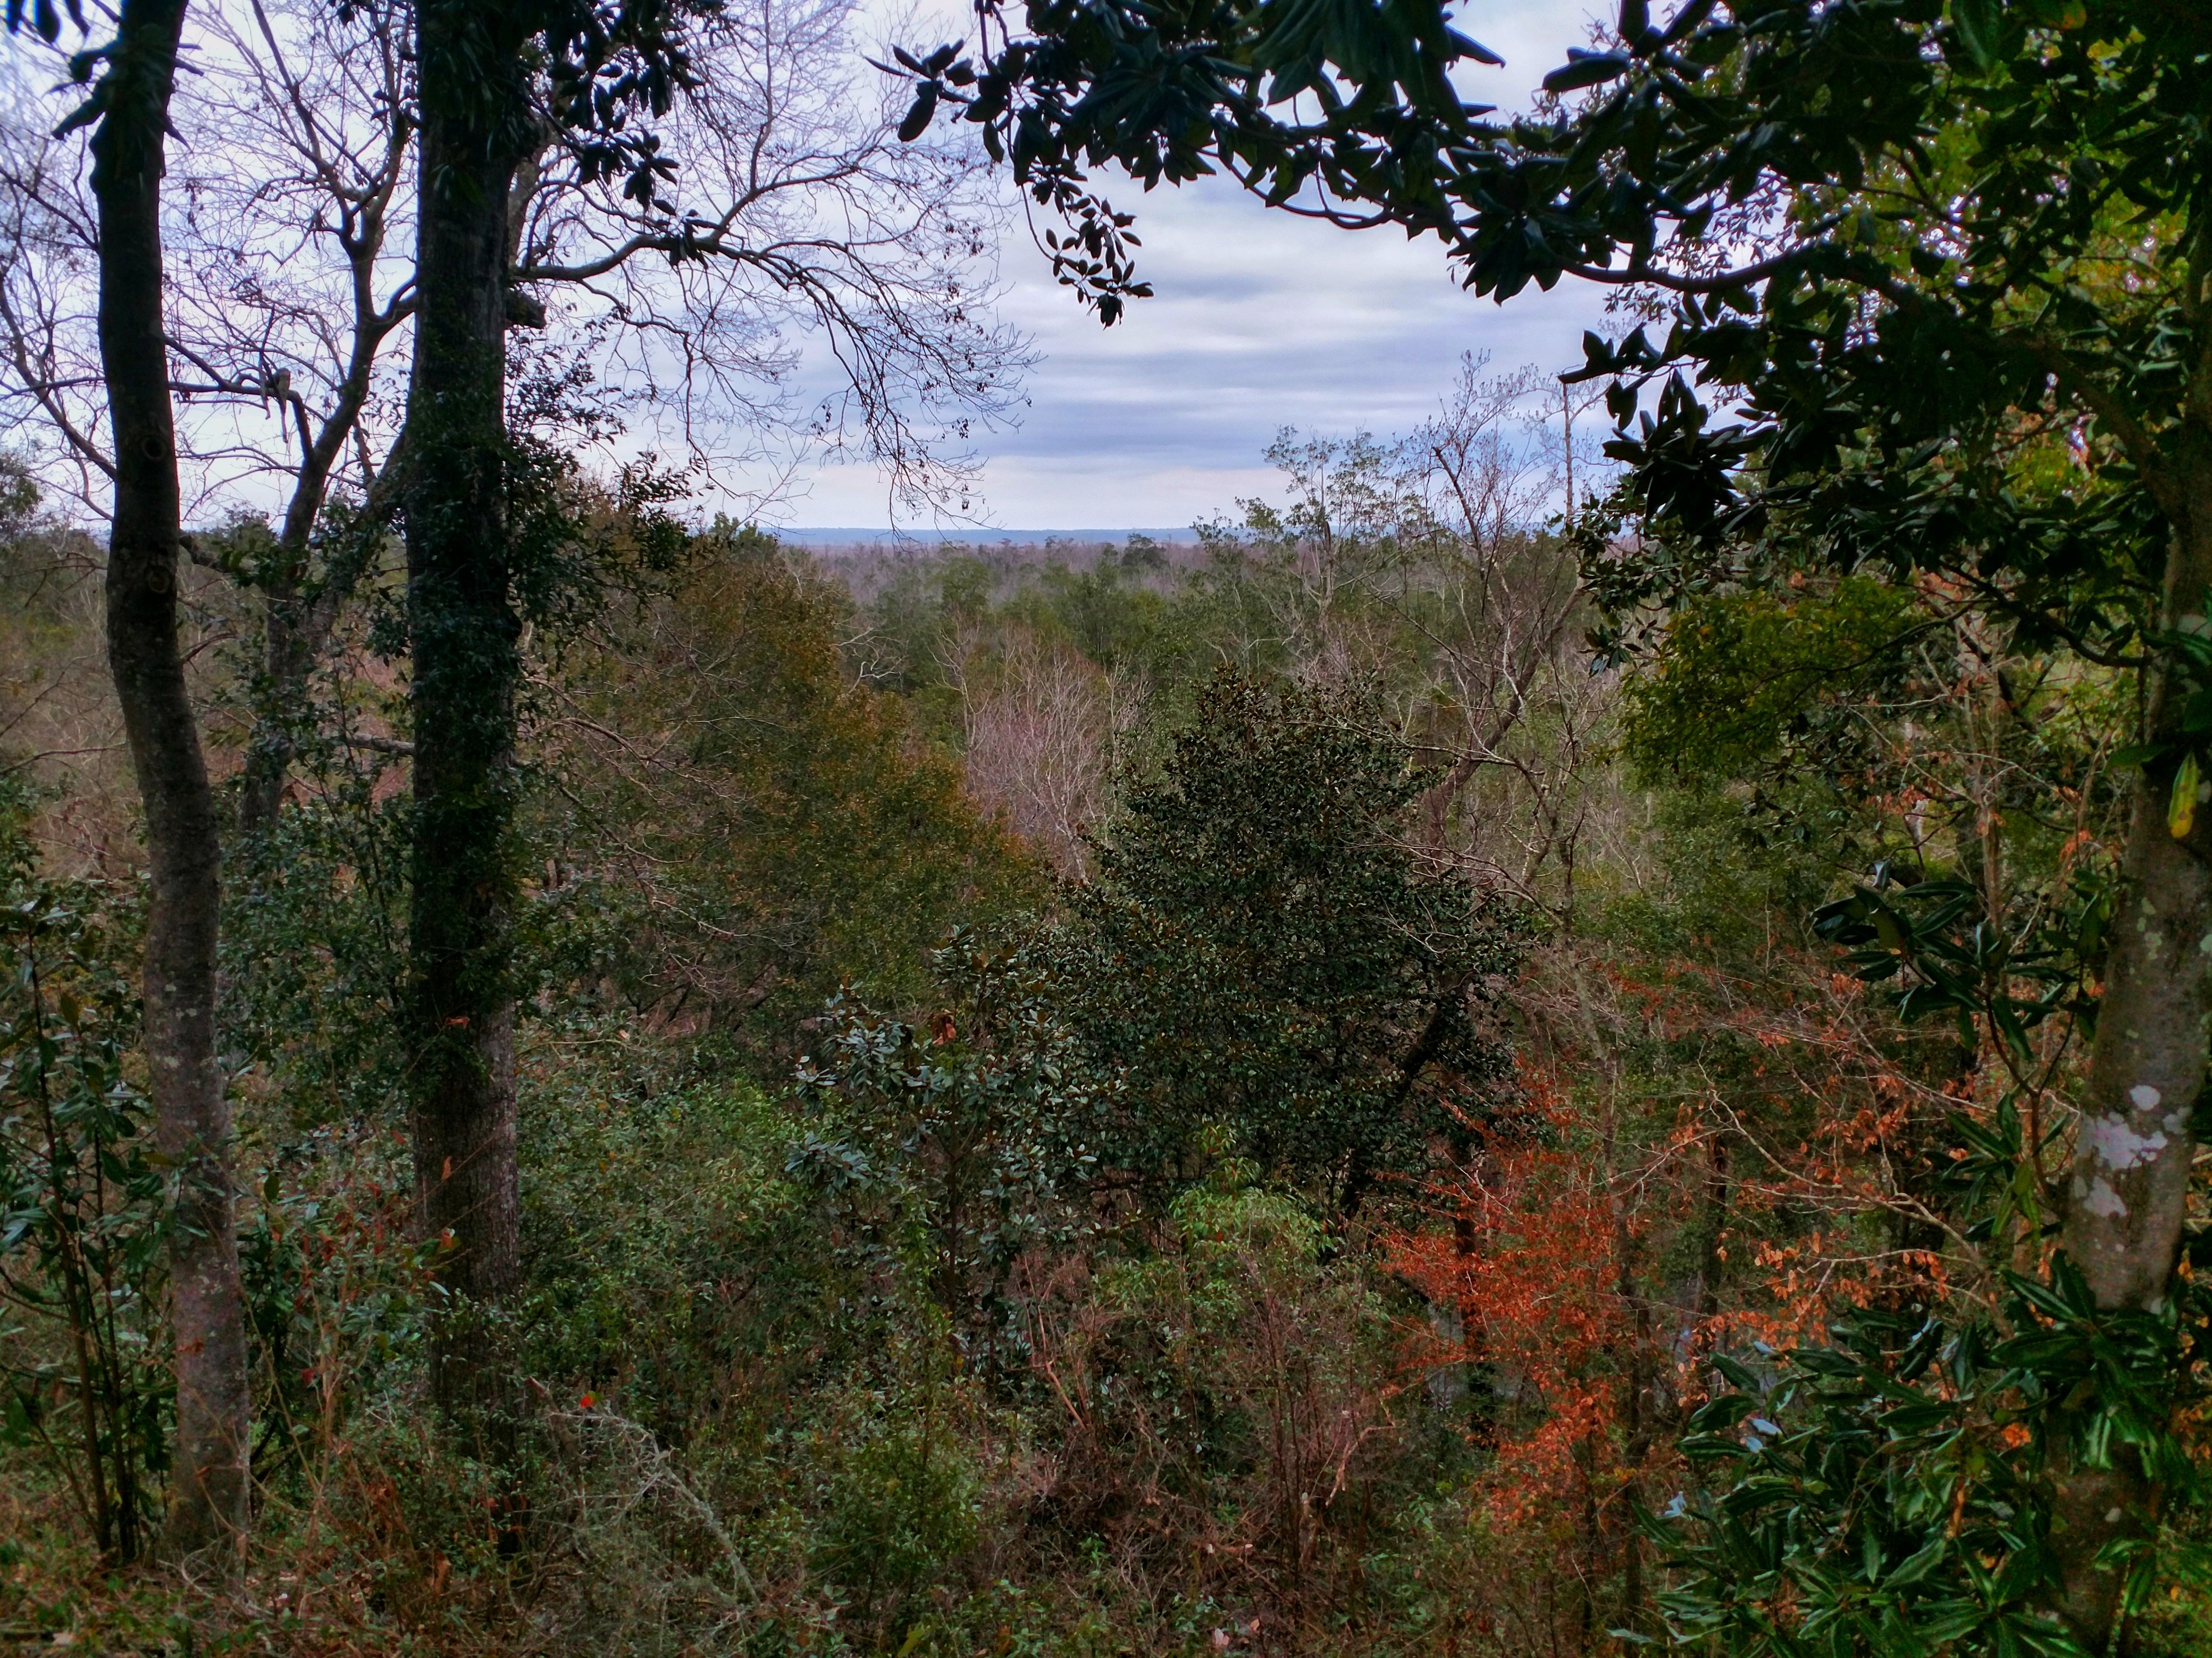
[[[1818,1340],[1832,1311],[1947,1295],[1924,1247],[1936,1127],[1980,1079],[1900,1032],[1825,955],[1756,975],[1683,957],[1542,953],[1517,1108],[1467,1123],[1396,1273],[1455,1311],[1411,1340],[1469,1366],[1478,1499],[1568,1601],[1646,1594],[1632,1514],[1679,1488],[1703,1357]],[[1869,1225],[1869,1216],[1885,1216]],[[1568,1649],[1586,1645],[1579,1625]],[[1601,1627],[1601,1625],[1590,1625]]]

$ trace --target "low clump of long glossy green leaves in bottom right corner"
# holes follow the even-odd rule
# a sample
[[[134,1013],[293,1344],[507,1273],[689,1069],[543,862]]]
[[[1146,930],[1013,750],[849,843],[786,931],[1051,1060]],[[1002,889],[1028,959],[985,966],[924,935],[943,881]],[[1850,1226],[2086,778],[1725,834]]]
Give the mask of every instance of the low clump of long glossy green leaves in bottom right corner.
[[[2177,1424],[2205,1402],[2208,1333],[2194,1289],[2099,1313],[2059,1256],[2048,1282],[2013,1278],[2002,1322],[1863,1309],[1765,1373],[1719,1360],[1734,1391],[1683,1439],[1714,1490],[1655,1528],[1672,1638],[1741,1658],[2077,1658],[2048,1612],[2053,1481],[2130,1455],[2185,1512],[2201,1470]],[[2177,1567],[2148,1545],[2110,1554],[2130,1612]],[[2179,1554],[2203,1574],[2201,1550]]]

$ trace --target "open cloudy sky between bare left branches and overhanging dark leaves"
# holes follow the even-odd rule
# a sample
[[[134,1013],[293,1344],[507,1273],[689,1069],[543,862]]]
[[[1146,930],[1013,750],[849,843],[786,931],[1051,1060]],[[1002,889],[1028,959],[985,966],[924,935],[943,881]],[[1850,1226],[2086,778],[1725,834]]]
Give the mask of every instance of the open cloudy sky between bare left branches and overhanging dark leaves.
[[[1577,0],[1471,0],[1458,27],[1506,66],[1471,71],[1467,91],[1526,106],[1595,15]],[[1493,371],[1566,369],[1582,360],[1582,332],[1604,329],[1606,296],[1586,283],[1478,301],[1436,239],[1270,212],[1217,179],[1150,195],[1108,183],[1106,195],[1137,212],[1139,274],[1155,298],[1104,329],[1053,283],[1020,221],[1009,225],[1000,314],[1040,358],[1020,424],[975,444],[982,526],[1157,531],[1234,513],[1239,497],[1274,493],[1261,451],[1283,427],[1407,431],[1436,409],[1464,351],[1486,351]],[[867,469],[823,466],[796,482],[772,513],[783,524],[889,524]]]

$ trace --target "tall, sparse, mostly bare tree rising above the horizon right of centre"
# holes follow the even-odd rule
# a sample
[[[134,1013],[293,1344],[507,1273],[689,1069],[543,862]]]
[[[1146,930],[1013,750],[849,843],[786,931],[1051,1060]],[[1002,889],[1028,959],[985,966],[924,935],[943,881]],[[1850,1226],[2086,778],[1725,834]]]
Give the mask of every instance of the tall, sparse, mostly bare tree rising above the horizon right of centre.
[[[1267,455],[1290,500],[1206,526],[1208,584],[1250,617],[1248,652],[1385,685],[1440,767],[1420,800],[1429,860],[1573,924],[1577,778],[1610,692],[1582,641],[1575,550],[1535,528],[1564,482],[1542,387],[1467,356],[1402,438],[1283,433]]]

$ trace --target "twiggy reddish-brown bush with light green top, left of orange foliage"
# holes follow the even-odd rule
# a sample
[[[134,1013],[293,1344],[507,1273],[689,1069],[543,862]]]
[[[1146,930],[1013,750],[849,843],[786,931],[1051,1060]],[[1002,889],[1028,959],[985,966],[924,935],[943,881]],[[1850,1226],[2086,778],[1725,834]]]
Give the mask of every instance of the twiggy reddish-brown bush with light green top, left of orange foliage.
[[[1358,1251],[1243,1176],[1177,1198],[1155,1251],[1037,1287],[1057,1475],[1035,1519],[1155,1605],[1301,1625],[1363,1609],[1407,1444],[1398,1329]]]

